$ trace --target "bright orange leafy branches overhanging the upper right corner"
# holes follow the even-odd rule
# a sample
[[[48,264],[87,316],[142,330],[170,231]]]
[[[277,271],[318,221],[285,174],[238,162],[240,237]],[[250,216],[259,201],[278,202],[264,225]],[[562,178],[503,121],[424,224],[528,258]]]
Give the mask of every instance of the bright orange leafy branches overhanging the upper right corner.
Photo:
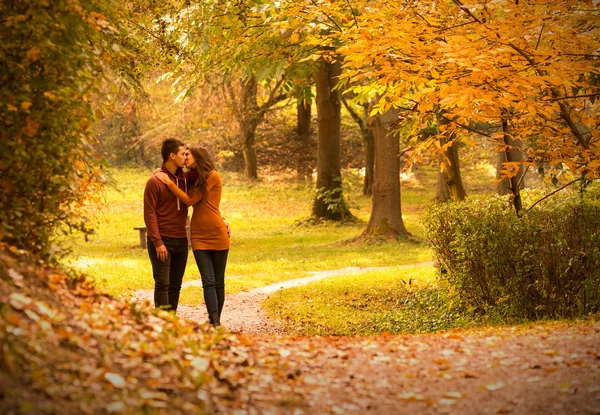
[[[359,90],[381,91],[380,113],[392,106],[411,112],[407,166],[454,140],[477,145],[485,136],[504,153],[515,142],[526,144],[522,162],[504,163],[508,179],[524,165],[546,162],[594,178],[600,167],[597,13],[590,1],[454,0],[436,7],[372,1],[340,38],[342,77],[369,80]],[[419,141],[418,130],[440,111],[450,120],[440,134],[451,141]],[[473,130],[477,123],[495,132]],[[519,186],[511,189],[518,200]]]

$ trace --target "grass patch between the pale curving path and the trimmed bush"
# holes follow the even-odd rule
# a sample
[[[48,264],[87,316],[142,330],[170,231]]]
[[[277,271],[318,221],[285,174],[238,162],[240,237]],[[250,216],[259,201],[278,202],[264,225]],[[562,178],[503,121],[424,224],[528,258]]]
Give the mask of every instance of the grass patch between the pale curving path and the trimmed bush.
[[[264,306],[288,333],[299,335],[427,333],[481,324],[452,306],[429,265],[332,277],[278,291]]]

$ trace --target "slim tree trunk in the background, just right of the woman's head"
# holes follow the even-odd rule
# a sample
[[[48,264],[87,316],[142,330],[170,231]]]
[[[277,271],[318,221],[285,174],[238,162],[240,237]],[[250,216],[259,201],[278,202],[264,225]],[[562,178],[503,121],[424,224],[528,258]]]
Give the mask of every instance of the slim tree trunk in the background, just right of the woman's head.
[[[248,179],[258,178],[258,167],[256,162],[256,150],[254,142],[256,138],[256,127],[262,118],[256,95],[258,92],[258,81],[250,77],[242,84],[242,101],[240,113],[240,130],[242,134],[242,153],[244,155],[244,175]]]

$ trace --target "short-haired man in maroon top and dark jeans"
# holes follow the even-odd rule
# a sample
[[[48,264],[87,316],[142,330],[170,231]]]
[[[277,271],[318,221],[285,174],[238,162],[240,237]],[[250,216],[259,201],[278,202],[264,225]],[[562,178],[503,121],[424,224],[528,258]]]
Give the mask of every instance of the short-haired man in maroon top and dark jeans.
[[[183,142],[167,138],[162,143],[161,154],[161,171],[187,192],[182,170],[186,159]],[[144,190],[144,222],[154,277],[154,306],[174,312],[177,311],[188,256],[187,212],[187,206],[152,175]]]

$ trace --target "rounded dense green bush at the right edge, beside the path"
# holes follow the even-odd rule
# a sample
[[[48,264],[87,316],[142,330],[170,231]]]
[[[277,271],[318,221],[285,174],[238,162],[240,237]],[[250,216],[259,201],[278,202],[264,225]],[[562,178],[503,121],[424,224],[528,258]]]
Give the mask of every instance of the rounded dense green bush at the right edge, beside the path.
[[[498,196],[433,204],[423,221],[450,293],[505,318],[600,309],[600,202],[574,196],[517,216]]]

